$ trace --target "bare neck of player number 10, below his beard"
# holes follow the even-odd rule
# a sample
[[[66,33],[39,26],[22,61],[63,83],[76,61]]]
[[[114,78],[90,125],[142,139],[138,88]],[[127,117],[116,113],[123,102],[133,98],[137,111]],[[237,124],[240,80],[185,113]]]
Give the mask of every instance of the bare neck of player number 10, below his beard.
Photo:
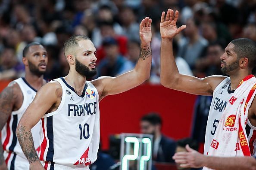
[[[86,83],[86,77],[79,74],[75,69],[70,69],[69,74],[64,77],[66,82],[71,85],[78,95],[81,95],[84,90],[84,85]]]

